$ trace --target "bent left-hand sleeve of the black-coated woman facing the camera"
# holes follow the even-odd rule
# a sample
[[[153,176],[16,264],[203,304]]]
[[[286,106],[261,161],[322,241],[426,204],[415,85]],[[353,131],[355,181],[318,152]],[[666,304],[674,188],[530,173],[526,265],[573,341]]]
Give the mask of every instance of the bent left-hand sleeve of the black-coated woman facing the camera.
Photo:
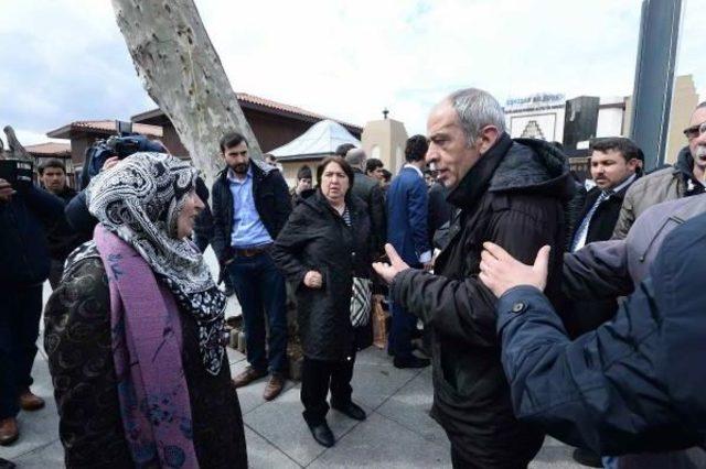
[[[310,270],[301,262],[301,253],[310,237],[307,219],[301,210],[295,210],[275,240],[270,251],[272,260],[292,286],[303,284],[304,275]]]

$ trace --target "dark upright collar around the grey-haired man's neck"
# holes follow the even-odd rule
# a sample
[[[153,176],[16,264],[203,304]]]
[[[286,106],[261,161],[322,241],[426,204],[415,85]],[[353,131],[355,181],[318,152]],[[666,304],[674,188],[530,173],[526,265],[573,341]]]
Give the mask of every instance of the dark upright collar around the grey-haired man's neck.
[[[451,190],[447,200],[460,208],[471,206],[488,190],[493,173],[495,173],[498,165],[512,146],[512,143],[510,135],[503,132],[495,143],[493,143],[493,146],[491,146],[466,176],[463,176],[459,185]]]

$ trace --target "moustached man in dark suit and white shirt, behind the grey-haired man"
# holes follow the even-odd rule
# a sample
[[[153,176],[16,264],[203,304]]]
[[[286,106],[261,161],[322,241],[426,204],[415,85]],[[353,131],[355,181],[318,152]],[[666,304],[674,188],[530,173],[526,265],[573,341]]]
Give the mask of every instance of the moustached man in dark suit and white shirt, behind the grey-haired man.
[[[642,152],[630,140],[620,137],[598,139],[591,144],[590,170],[596,186],[586,195],[586,201],[576,220],[570,252],[593,241],[611,238],[623,197],[638,177]],[[613,299],[579,302],[567,316],[571,337],[593,330],[613,317],[618,304]]]

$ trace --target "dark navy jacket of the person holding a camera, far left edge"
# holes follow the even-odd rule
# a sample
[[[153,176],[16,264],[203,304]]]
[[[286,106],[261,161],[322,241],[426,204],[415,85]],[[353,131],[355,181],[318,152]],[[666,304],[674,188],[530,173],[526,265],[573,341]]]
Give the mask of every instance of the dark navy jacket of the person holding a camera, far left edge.
[[[64,215],[64,201],[31,187],[0,201],[0,282],[36,284],[49,277],[46,231]]]

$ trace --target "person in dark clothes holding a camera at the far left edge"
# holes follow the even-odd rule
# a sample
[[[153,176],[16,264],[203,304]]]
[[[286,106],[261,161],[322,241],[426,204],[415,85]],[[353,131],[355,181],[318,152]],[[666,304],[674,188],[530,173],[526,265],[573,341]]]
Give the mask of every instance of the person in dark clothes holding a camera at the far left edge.
[[[31,163],[0,163],[0,445],[4,446],[19,437],[20,407],[44,406],[30,391],[31,371],[42,284],[51,265],[46,230],[61,220],[64,203],[34,187]]]

